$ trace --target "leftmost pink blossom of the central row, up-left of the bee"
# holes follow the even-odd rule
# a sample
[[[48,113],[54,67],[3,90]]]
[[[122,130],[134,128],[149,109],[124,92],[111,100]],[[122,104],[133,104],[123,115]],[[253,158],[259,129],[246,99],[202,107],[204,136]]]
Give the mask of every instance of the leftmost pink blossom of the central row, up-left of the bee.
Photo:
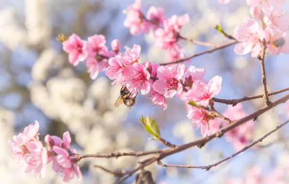
[[[110,79],[115,79],[112,82],[112,85],[118,84],[119,82],[123,81],[123,73],[125,64],[130,64],[131,61],[125,59],[121,55],[116,55],[113,58],[110,58],[109,67],[106,69],[105,74]]]

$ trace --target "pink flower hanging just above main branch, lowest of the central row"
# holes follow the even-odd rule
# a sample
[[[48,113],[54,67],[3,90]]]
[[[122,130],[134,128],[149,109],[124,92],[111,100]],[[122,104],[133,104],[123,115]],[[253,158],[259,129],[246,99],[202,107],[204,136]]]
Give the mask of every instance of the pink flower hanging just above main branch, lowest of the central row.
[[[194,123],[197,129],[201,128],[201,134],[203,137],[210,134],[209,121],[213,118],[213,116],[211,116],[208,111],[201,108],[192,107],[192,109],[188,112],[187,117],[192,120],[192,123]]]

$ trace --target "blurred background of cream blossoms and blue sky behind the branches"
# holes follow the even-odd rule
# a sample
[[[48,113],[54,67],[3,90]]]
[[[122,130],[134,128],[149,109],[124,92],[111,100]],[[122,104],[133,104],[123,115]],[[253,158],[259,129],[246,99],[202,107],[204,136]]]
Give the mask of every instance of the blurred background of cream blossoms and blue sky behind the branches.
[[[154,118],[160,126],[162,137],[174,144],[183,144],[201,138],[187,119],[183,101],[176,96],[168,100],[168,109],[153,107],[147,97],[138,95],[137,105],[131,111],[125,106],[114,107],[120,86],[103,73],[91,80],[85,65],[73,67],[56,40],[59,33],[66,36],[76,33],[82,39],[94,34],[106,36],[107,45],[118,38],[123,46],[141,46],[141,61],[164,62],[163,51],[153,46],[151,34],[131,36],[123,26],[126,9],[133,0],[0,0],[0,178],[1,184],[61,184],[61,174],[48,166],[44,179],[20,171],[13,161],[8,138],[38,120],[40,136],[57,135],[68,130],[72,147],[78,153],[110,153],[113,151],[148,151],[164,148],[159,142],[147,140],[138,118],[141,114]],[[190,15],[190,23],[181,34],[186,38],[221,44],[228,40],[213,27],[221,23],[232,34],[243,17],[249,15],[245,0],[231,0],[226,5],[217,0],[143,0],[142,11],[150,6],[163,7],[165,15]],[[284,5],[286,11],[289,4]],[[207,47],[182,42],[186,56],[204,51]],[[194,58],[186,65],[206,69],[205,80],[215,75],[223,77],[218,98],[235,99],[262,93],[259,63],[251,56],[238,56],[234,46]],[[266,55],[266,72],[269,91],[289,86],[289,57]],[[283,94],[284,95],[284,94]],[[274,100],[282,94],[270,97]],[[257,99],[242,103],[246,113],[263,106]],[[224,104],[216,104],[224,112]],[[253,140],[262,137],[276,125],[287,120],[285,105],[258,117]],[[282,170],[282,181],[289,183],[288,126],[266,138],[259,145],[237,157],[212,168],[201,169],[162,168],[157,164],[147,167],[158,184],[225,184],[230,178],[245,178],[253,166],[262,168],[262,176]],[[270,143],[274,142],[273,145]],[[192,148],[162,160],[164,164],[203,166],[235,153],[225,138],[210,141],[203,148]],[[76,178],[71,184],[111,184],[117,178],[94,168],[97,164],[108,169],[132,169],[135,157],[118,159],[89,158],[81,160],[84,179]],[[133,183],[130,177],[126,184]],[[281,183],[280,183],[281,184]]]

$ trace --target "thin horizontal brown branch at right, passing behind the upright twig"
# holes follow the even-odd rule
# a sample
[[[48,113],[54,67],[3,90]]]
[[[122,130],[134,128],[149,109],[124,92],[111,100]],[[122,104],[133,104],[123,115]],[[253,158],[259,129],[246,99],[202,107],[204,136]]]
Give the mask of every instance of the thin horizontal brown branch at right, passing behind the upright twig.
[[[281,92],[287,92],[289,91],[289,88],[284,88],[282,90],[277,90],[274,92],[269,92],[268,96],[272,96],[275,94],[279,94]],[[257,98],[262,98],[264,95],[263,94],[259,94],[256,96],[245,96],[243,98],[240,99],[233,99],[233,100],[225,100],[225,99],[219,99],[219,98],[212,98],[214,100],[214,102],[218,102],[218,103],[222,103],[222,104],[227,104],[227,105],[233,105],[236,106],[238,103],[240,102],[244,102],[244,101],[248,101],[248,100],[253,100],[253,99],[257,99]]]

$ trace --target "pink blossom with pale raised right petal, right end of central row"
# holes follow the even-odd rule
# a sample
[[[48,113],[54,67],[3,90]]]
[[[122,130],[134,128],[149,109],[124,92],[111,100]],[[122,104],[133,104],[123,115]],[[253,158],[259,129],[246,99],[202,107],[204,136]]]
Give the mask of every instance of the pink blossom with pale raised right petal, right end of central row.
[[[186,98],[195,101],[199,106],[209,105],[212,97],[216,96],[222,89],[222,77],[215,76],[206,84],[201,80],[195,80],[192,89],[187,92]]]

